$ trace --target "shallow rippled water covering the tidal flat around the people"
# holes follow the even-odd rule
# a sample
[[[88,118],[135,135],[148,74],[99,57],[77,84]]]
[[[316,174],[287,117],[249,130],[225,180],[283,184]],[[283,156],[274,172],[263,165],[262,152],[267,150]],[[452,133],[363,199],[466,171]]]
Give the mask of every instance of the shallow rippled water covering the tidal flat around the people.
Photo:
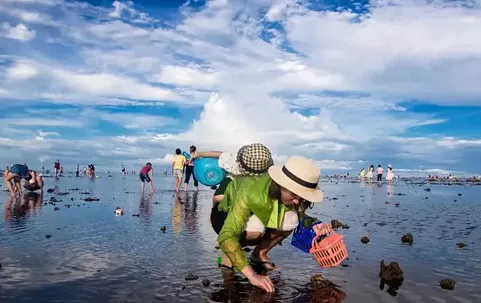
[[[209,188],[176,197],[172,177],[158,176],[158,192],[141,199],[137,176],[45,181],[46,189],[81,190],[15,202],[0,188],[0,302],[307,302],[306,284],[319,273],[339,286],[342,302],[481,302],[481,186],[324,180],[326,202],[309,213],[350,226],[338,231],[349,260],[322,270],[288,238],[270,253],[280,268],[269,273],[276,293],[267,296],[240,274],[217,268]],[[62,200],[59,210],[44,205],[51,197]],[[100,201],[80,200],[86,197]],[[114,215],[117,206],[124,216]],[[412,246],[401,243],[407,232]],[[362,236],[371,242],[362,244]],[[457,249],[458,242],[468,246]],[[382,259],[404,271],[395,297],[380,289]],[[199,279],[186,281],[189,273]],[[456,289],[442,290],[443,278],[454,279]]]

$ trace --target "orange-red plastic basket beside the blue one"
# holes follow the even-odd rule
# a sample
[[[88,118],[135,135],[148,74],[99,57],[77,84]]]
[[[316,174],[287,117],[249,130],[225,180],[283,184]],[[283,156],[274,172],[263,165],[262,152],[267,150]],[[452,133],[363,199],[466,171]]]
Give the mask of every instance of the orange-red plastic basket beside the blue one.
[[[309,253],[314,256],[322,268],[336,267],[347,259],[347,249],[342,235],[332,232],[326,238],[318,241],[325,235],[317,235],[312,239],[312,247]]]

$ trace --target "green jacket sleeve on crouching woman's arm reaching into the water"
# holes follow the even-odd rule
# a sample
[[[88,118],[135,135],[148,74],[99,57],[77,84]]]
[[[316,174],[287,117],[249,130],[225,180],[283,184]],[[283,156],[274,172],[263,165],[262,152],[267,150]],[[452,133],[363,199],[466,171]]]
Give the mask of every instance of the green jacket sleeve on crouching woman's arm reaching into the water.
[[[226,195],[231,194],[232,186],[226,190]],[[246,190],[237,191],[236,201],[227,215],[224,227],[219,233],[217,242],[221,250],[229,257],[232,265],[238,271],[242,271],[249,264],[245,252],[239,243],[244,225],[249,220],[251,209],[248,205],[248,195]]]

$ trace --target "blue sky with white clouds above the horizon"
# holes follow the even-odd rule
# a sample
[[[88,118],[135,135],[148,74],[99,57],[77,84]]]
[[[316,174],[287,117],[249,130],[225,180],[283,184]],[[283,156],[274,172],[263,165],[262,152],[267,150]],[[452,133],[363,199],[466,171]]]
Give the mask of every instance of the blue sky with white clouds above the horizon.
[[[0,3],[4,164],[263,142],[326,173],[479,174],[481,2]]]

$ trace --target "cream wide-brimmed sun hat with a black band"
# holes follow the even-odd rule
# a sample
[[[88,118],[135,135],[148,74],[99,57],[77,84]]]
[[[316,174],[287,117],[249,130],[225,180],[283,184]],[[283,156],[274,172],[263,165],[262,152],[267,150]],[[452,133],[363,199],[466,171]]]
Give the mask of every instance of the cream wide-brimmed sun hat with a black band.
[[[312,160],[290,157],[284,166],[269,168],[269,176],[280,186],[309,202],[321,202],[324,197],[319,189],[321,170]]]

